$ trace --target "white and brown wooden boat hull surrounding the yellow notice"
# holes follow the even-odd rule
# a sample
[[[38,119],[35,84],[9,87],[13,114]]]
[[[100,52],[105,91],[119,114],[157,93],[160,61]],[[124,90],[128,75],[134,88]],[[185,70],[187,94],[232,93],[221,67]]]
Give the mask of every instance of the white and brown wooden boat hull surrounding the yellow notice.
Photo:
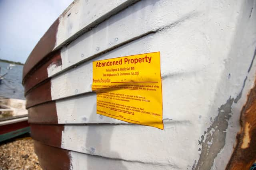
[[[51,159],[53,169],[250,167],[256,2],[108,2],[71,4],[24,66],[42,167]],[[97,115],[92,61],[154,51],[161,52],[164,130]]]

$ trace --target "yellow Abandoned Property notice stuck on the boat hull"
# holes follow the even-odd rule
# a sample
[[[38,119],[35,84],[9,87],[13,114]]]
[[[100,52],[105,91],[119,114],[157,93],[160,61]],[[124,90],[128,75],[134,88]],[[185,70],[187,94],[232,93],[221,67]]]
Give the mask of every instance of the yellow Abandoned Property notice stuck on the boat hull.
[[[160,52],[93,62],[97,114],[164,129]]]

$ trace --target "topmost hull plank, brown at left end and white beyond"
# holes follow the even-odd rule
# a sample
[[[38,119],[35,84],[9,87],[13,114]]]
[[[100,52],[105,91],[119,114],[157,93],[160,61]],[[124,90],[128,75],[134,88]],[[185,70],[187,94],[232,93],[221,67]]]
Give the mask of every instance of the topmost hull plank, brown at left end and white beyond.
[[[51,25],[30,53],[23,68],[23,78],[52,51],[136,1],[138,0],[108,0],[107,4],[102,4],[100,0],[74,1]]]

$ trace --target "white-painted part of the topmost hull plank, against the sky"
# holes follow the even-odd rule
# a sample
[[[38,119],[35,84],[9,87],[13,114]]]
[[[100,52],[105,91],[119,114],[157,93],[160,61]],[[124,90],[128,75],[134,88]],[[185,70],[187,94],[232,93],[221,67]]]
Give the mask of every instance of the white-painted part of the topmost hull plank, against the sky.
[[[74,0],[60,15],[55,49],[82,29],[89,29],[136,0]]]

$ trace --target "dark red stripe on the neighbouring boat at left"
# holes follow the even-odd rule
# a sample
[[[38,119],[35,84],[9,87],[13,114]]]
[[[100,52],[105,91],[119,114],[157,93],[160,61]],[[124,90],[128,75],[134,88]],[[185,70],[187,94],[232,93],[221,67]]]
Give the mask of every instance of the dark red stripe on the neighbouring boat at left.
[[[4,133],[16,131],[18,129],[22,129],[25,127],[29,127],[28,121],[20,121],[20,122],[8,124],[8,125],[3,125],[3,126],[0,126],[0,135]]]

